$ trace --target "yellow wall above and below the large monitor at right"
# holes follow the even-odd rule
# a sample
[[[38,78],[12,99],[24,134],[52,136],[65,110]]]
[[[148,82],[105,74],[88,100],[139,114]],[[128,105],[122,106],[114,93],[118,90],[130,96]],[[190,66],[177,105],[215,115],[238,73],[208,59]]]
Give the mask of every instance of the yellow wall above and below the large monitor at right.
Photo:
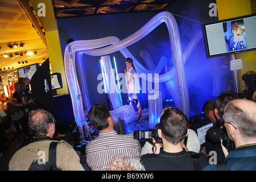
[[[219,20],[256,13],[253,0],[217,0],[216,3]],[[256,51],[237,53],[235,59],[242,59],[243,62],[243,69],[238,71],[239,92],[242,92],[245,89],[242,75],[247,71],[256,71]]]

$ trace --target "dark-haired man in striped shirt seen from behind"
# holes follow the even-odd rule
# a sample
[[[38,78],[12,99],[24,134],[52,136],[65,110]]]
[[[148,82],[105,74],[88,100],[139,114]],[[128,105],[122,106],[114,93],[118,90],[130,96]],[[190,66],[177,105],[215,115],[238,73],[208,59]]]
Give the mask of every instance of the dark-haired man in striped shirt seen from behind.
[[[105,170],[111,159],[118,155],[141,159],[141,144],[133,139],[133,134],[117,134],[106,105],[93,105],[88,116],[91,125],[99,131],[99,137],[86,144],[86,163],[93,171]]]

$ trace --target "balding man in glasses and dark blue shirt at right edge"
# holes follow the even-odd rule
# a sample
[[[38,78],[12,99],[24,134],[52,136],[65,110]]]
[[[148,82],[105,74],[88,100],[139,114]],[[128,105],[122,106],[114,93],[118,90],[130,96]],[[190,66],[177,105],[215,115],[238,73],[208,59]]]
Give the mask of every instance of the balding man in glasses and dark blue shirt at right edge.
[[[223,122],[227,135],[235,143],[235,150],[228,151],[222,145],[225,154],[226,170],[241,171],[256,169],[256,103],[238,99],[226,105]],[[223,142],[222,142],[223,143]],[[217,170],[219,165],[208,165],[204,170]]]

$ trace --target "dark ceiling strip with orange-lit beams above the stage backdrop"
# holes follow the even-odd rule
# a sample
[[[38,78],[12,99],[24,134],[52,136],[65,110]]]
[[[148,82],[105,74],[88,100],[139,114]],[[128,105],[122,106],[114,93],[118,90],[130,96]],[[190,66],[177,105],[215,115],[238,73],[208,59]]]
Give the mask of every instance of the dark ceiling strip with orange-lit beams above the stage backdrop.
[[[163,11],[175,0],[52,0],[56,18]]]

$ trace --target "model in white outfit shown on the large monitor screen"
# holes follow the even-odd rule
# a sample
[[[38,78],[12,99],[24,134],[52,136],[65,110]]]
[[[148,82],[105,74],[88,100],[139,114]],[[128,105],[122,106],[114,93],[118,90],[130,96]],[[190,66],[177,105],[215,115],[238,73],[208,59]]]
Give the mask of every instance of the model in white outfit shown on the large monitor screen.
[[[243,37],[243,33],[245,29],[238,27],[238,22],[235,22],[235,27],[231,28],[234,35],[234,46],[233,51],[237,49],[237,44],[240,44],[241,49],[244,49],[245,38]]]

